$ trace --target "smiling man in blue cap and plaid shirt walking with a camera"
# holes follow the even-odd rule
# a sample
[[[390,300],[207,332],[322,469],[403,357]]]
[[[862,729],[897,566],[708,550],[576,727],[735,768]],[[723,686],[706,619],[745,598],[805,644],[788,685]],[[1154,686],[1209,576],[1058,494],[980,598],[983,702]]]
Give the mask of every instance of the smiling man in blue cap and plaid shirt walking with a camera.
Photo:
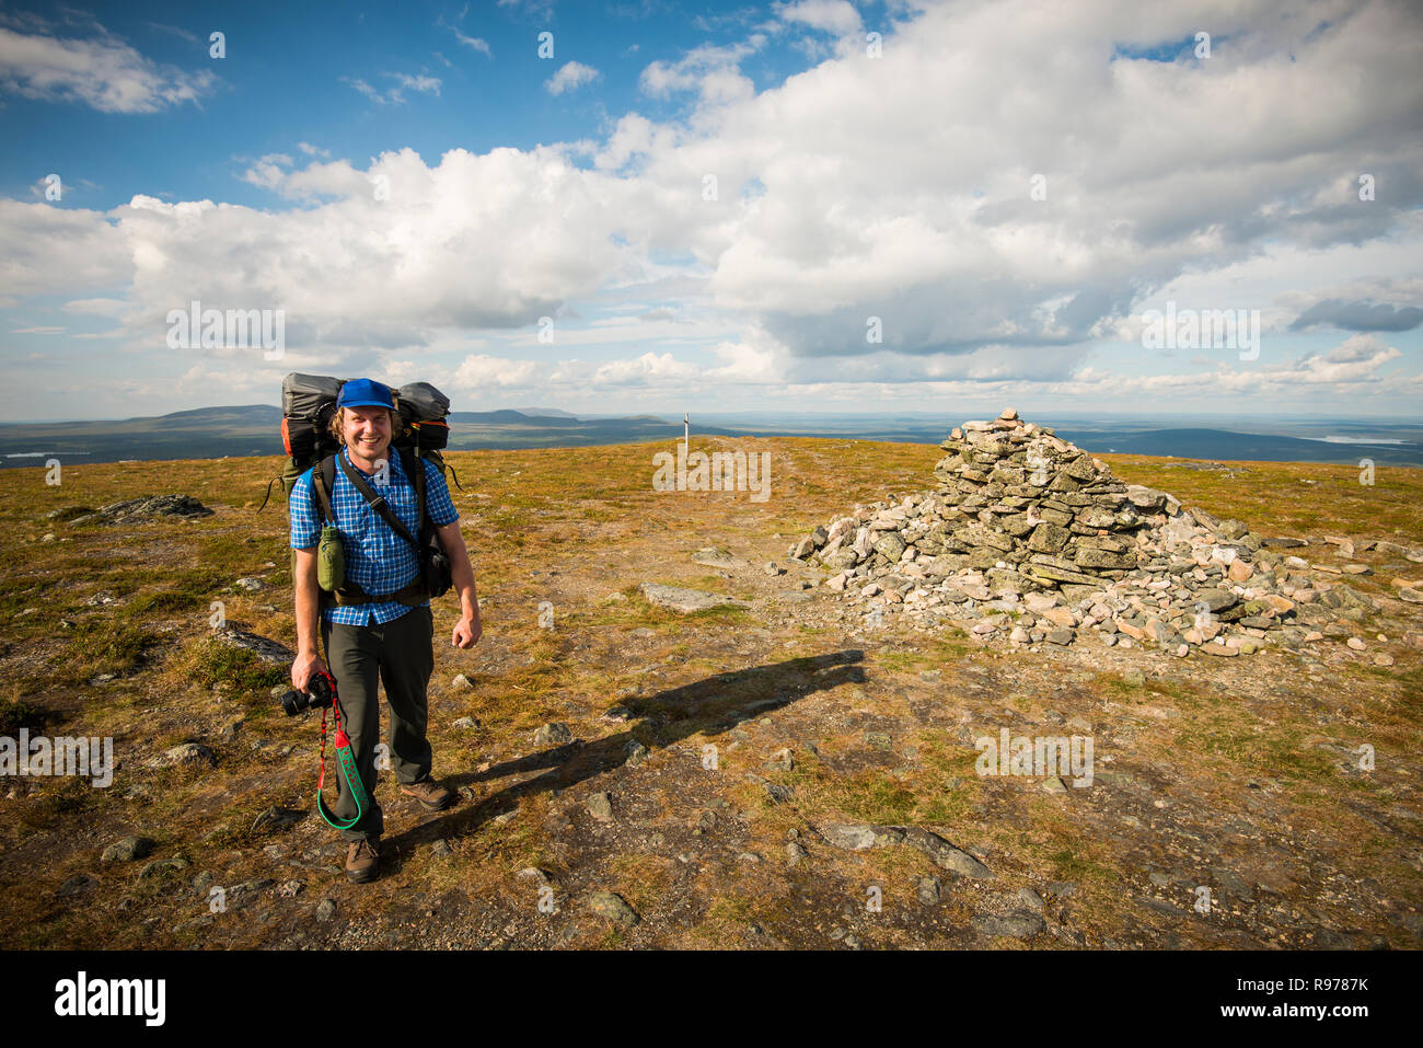
[[[394,426],[398,424],[390,389],[370,379],[353,379],[342,387],[336,407],[332,431],[344,446],[342,457],[364,474],[366,483],[384,497],[410,534],[418,538],[418,496],[398,451],[390,451]],[[450,488],[441,471],[424,460],[417,463],[425,470],[425,511],[440,528],[440,541],[450,557],[451,578],[460,594],[460,621],[454,624],[450,639],[457,648],[472,648],[482,628],[474,592],[474,567],[460,534],[460,514],[450,501]],[[326,669],[316,646],[320,607],[316,547],[320,527],[312,483],[312,470],[307,470],[296,481],[290,498],[297,636],[292,686],[303,692],[312,674]],[[376,745],[380,739],[377,676],[386,685],[390,703],[390,763],[400,792],[416,797],[431,812],[448,807],[454,793],[430,777],[433,753],[425,739],[425,688],[434,669],[430,601],[410,607],[381,599],[418,575],[416,548],[370,508],[339,463],[330,503],[342,533],[346,578],[371,595],[369,604],[333,605],[320,615],[322,641],[332,662],[330,674],[336,678],[343,726],[370,796],[370,807],[360,822],[342,830],[350,843],[346,876],[366,883],[380,873],[380,834],[384,829],[380,805],[374,799]],[[356,814],[353,793],[342,789],[334,816],[350,822]]]

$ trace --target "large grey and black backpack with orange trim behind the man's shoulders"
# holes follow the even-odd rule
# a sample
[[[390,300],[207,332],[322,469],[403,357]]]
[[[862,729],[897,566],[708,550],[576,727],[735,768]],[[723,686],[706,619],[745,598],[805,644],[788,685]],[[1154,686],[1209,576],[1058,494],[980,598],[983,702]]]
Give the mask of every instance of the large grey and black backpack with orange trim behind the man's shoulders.
[[[340,441],[332,436],[330,423],[336,414],[336,399],[340,396],[344,379],[324,374],[300,374],[292,372],[282,379],[282,444],[287,461],[280,477],[268,481],[262,497],[260,513],[272,497],[272,484],[282,481],[287,498],[302,474],[329,456],[342,450]],[[413,451],[417,459],[428,459],[441,474],[454,477],[461,491],[460,477],[453,466],[447,466],[441,454],[450,443],[450,397],[428,382],[413,382],[394,390],[397,433],[391,434],[390,446],[396,451]],[[421,470],[423,473],[423,470]],[[414,480],[414,477],[411,477]],[[424,504],[421,503],[421,510]]]

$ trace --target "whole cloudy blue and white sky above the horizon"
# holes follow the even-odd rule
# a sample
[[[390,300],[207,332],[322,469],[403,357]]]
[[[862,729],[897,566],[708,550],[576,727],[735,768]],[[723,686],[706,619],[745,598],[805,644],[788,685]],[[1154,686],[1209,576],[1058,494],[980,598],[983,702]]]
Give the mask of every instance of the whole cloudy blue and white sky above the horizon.
[[[0,6],[6,421],[1423,419],[1417,3],[192,7]]]

